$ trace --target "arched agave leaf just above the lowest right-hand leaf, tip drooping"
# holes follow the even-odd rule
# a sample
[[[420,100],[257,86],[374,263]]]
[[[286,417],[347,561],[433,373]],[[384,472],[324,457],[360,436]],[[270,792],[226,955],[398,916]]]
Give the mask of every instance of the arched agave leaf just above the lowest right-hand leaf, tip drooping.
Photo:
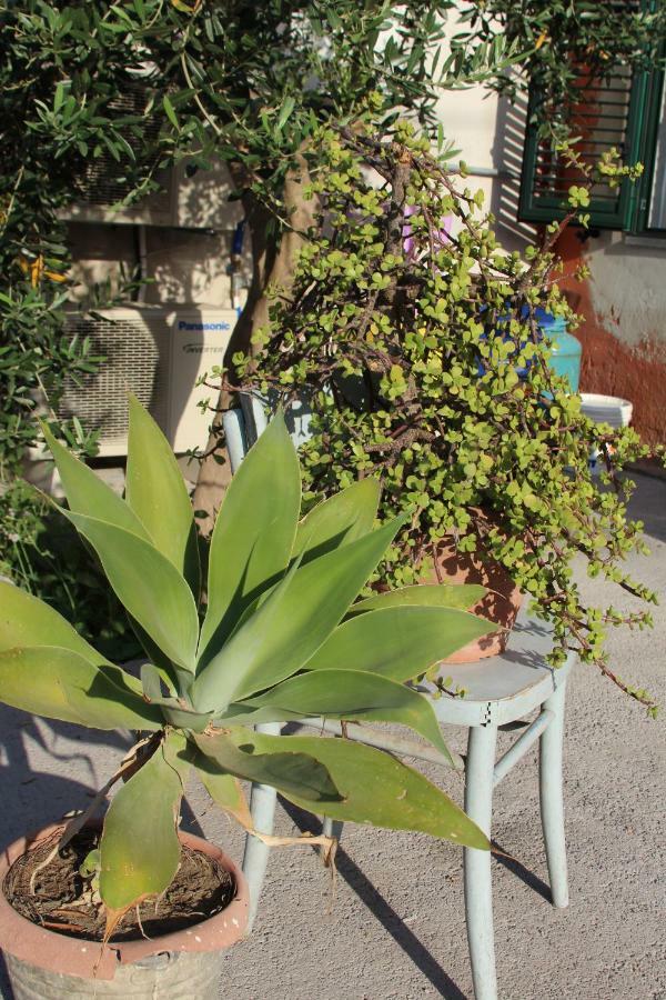
[[[300,716],[397,722],[430,740],[445,757],[444,742],[433,707],[417,691],[376,673],[362,670],[313,670],[290,677],[258,698],[243,702],[263,709],[262,722],[283,720],[281,709]],[[273,716],[271,716],[271,711]],[[266,714],[268,712],[268,714]]]

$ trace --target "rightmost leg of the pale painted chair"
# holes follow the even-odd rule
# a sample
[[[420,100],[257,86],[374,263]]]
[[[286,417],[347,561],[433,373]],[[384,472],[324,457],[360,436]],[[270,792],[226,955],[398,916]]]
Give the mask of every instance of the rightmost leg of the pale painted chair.
[[[562,750],[564,743],[564,697],[562,683],[544,702],[553,712],[553,719],[541,738],[539,747],[539,800],[548,878],[553,906],[568,906],[566,874],[566,843],[564,837],[564,801],[562,792]]]

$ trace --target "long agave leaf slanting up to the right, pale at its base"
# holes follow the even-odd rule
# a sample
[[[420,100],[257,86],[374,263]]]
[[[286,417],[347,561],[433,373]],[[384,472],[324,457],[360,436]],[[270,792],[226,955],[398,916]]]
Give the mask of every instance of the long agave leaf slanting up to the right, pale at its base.
[[[291,571],[198,673],[199,711],[223,711],[291,677],[324,642],[376,567],[405,518]]]

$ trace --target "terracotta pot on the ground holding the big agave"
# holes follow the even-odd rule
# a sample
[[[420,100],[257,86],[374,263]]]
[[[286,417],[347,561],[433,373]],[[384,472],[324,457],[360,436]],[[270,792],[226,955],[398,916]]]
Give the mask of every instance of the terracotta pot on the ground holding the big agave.
[[[223,949],[235,943],[248,923],[249,890],[242,871],[218,847],[200,837],[180,833],[183,844],[219,861],[235,880],[231,903],[214,917],[186,930],[152,940],[99,941],[60,934],[21,917],[4,897],[10,866],[62,823],[23,837],[0,856],[0,949],[14,1000],[210,1000],[218,992]]]

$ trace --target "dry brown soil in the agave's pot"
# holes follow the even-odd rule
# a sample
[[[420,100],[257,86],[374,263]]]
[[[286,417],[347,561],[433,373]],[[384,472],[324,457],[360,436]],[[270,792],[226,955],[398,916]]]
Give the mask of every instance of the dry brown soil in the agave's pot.
[[[103,908],[80,867],[99,842],[100,831],[85,829],[44,864],[61,830],[19,857],[3,882],[13,909],[26,919],[68,937],[102,941]],[[43,867],[40,867],[43,866]],[[32,886],[31,886],[32,880]],[[124,914],[113,941],[158,938],[193,927],[224,910],[235,894],[233,876],[215,858],[181,846],[181,863],[167,891]]]

